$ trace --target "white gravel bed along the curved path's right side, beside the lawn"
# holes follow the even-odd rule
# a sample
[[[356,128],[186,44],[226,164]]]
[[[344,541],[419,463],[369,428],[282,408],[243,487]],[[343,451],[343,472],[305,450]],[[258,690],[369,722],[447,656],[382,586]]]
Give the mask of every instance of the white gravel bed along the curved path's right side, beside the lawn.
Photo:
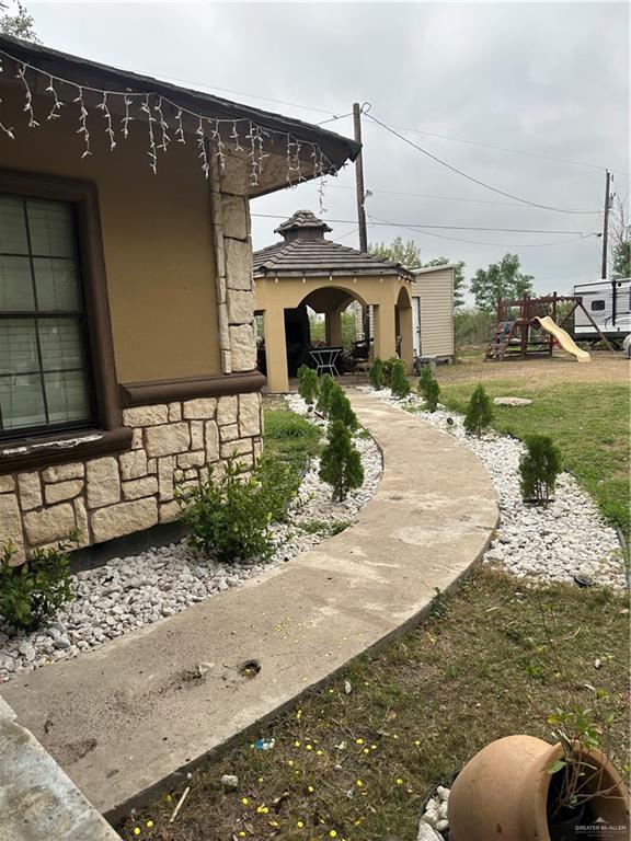
[[[592,576],[600,585],[627,586],[616,531],[574,476],[561,473],[555,498],[548,508],[525,505],[518,473],[519,458],[525,451],[521,441],[494,431],[484,434],[481,439],[468,436],[461,416],[444,407],[436,412],[423,411],[423,400],[415,394],[397,400],[389,389],[362,388],[401,408],[414,407],[422,420],[454,435],[482,461],[493,482],[501,516],[484,561],[500,563],[519,577],[574,581],[574,576],[581,573]],[[514,411],[523,410],[515,407]],[[447,418],[454,422],[452,425]]]

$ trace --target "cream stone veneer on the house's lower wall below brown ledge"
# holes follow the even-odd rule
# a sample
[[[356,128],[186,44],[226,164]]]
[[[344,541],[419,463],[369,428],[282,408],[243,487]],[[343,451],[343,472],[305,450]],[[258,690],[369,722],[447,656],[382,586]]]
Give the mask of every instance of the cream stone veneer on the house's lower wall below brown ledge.
[[[175,483],[197,485],[232,452],[252,465],[261,451],[259,393],[137,406],[123,423],[127,452],[0,475],[0,545],[11,540],[15,563],[73,528],[85,546],[172,522]]]

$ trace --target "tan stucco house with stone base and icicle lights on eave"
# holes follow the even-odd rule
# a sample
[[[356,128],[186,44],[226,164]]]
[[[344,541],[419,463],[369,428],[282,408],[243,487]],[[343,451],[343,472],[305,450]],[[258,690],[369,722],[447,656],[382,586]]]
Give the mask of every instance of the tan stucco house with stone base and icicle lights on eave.
[[[261,448],[249,198],[358,145],[0,37],[0,545],[176,517]]]

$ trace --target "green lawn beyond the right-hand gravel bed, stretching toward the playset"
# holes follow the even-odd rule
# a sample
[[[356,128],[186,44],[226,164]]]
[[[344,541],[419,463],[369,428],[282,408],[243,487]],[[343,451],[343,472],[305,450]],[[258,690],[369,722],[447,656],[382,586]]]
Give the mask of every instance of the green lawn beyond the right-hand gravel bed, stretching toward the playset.
[[[629,540],[628,372],[622,358],[613,362],[607,359],[601,368],[596,357],[590,365],[572,369],[564,360],[468,362],[440,368],[438,377],[440,401],[457,412],[466,411],[479,382],[491,398],[532,400],[529,406],[494,406],[493,426],[517,438],[531,433],[551,436],[561,448],[564,469],[576,476],[604,516]],[[563,373],[569,373],[567,381]]]

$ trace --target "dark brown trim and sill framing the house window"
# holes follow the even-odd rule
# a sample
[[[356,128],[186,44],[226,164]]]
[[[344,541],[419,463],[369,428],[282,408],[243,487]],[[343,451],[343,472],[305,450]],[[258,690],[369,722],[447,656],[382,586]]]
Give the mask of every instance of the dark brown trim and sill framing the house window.
[[[101,218],[96,185],[34,172],[0,170],[0,193],[28,198],[68,201],[77,209],[77,233],[89,324],[90,359],[97,429],[70,429],[64,435],[46,434],[7,440],[0,448],[0,474],[38,464],[60,463],[130,446],[131,430],[123,429],[123,415],[116,382],[114,345],[105,258],[101,240]],[[80,443],[77,441],[81,441]],[[62,446],[64,441],[68,446]]]

